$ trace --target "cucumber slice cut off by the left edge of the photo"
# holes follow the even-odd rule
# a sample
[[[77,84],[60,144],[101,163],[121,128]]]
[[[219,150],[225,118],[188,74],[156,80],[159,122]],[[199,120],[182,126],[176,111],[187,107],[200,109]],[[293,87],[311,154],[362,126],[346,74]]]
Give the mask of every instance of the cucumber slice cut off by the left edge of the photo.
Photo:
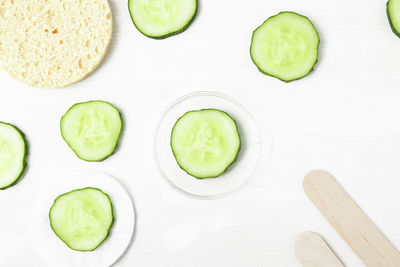
[[[0,189],[15,184],[24,173],[28,146],[15,126],[0,122]]]

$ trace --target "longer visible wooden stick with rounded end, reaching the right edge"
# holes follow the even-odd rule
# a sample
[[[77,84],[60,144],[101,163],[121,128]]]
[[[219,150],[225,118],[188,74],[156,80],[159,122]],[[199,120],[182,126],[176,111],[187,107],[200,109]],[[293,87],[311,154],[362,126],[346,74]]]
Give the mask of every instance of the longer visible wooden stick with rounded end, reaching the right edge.
[[[399,267],[400,254],[343,190],[321,170],[305,177],[306,195],[368,267]]]

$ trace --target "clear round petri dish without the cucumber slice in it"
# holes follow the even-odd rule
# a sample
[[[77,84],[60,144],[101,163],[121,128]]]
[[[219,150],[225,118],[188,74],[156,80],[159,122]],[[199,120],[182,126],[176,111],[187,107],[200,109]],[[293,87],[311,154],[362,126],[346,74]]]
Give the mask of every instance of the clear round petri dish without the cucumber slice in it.
[[[177,164],[170,147],[175,122],[190,110],[214,108],[227,112],[237,123],[241,149],[238,158],[217,178],[197,179]],[[179,193],[197,199],[215,199],[240,188],[254,173],[261,153],[261,140],[250,113],[236,100],[215,92],[195,92],[170,104],[155,133],[154,155],[165,181]]]

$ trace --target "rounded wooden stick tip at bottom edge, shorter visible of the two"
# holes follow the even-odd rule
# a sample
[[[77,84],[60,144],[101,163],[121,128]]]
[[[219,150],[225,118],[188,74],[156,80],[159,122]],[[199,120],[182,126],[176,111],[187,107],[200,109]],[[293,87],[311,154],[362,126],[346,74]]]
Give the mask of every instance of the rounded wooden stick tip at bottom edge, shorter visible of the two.
[[[296,238],[294,252],[303,267],[344,267],[325,240],[317,233],[301,233]]]

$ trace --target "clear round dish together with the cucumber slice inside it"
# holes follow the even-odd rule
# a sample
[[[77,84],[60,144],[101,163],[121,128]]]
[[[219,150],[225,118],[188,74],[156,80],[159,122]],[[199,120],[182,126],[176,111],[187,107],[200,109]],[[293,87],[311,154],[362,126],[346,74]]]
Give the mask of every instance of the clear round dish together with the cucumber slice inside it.
[[[201,91],[182,96],[166,108],[155,132],[154,157],[161,177],[172,189],[196,199],[220,198],[242,187],[250,177],[258,174],[258,171],[267,165],[272,145],[268,118],[256,105],[251,104],[252,113],[246,107],[227,95]],[[252,116],[253,112],[262,114],[258,123]],[[207,131],[208,127],[204,127],[207,123],[199,124],[196,117],[200,121],[205,119],[209,126],[216,126],[211,127],[211,138],[210,132]],[[184,120],[187,121],[181,124]],[[194,131],[191,130],[194,125],[203,126],[203,131],[196,130],[196,127],[193,128]],[[189,133],[187,140],[191,141],[190,133],[193,134],[192,141],[196,140],[193,146],[185,144],[187,133]],[[180,135],[183,137],[180,138]],[[224,141],[229,139],[229,142],[218,144],[221,140],[215,141],[213,137],[216,136],[224,137]],[[171,137],[177,139],[176,143],[171,142],[173,141]],[[175,151],[172,149],[173,146]],[[186,149],[188,150],[185,151]],[[215,159],[209,158],[215,156],[209,152],[218,150],[224,151],[225,154],[220,154]],[[195,152],[193,154],[195,159],[200,156],[204,157],[205,161],[193,162],[190,160],[192,157],[190,151]],[[187,157],[189,163],[182,161],[179,166],[177,159],[181,159],[178,154]],[[216,159],[221,160],[220,164],[217,164]],[[260,162],[263,164],[259,164]],[[206,175],[202,173],[205,171],[208,172]],[[218,178],[196,179],[193,175],[197,177],[218,175]]]

